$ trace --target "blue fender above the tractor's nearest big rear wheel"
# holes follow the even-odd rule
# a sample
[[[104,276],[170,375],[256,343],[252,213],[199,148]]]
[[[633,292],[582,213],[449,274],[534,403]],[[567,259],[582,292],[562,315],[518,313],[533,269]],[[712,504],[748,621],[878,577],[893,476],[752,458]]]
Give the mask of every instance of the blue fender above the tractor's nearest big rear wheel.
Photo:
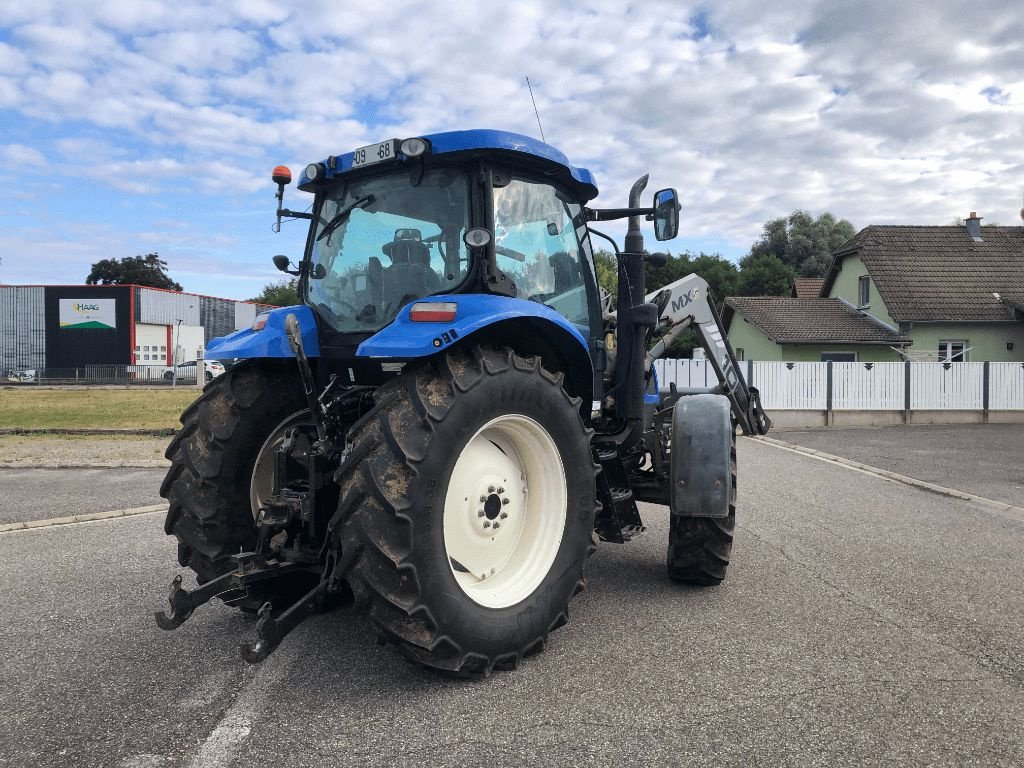
[[[410,319],[413,302],[402,307],[391,325],[359,345],[358,357],[425,357],[444,349],[476,331],[514,318],[538,318],[569,333],[587,352],[587,340],[580,329],[549,306],[525,299],[489,294],[444,294],[417,301],[444,301],[457,304],[454,321],[421,323]],[[589,352],[588,356],[589,356]]]

